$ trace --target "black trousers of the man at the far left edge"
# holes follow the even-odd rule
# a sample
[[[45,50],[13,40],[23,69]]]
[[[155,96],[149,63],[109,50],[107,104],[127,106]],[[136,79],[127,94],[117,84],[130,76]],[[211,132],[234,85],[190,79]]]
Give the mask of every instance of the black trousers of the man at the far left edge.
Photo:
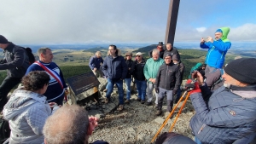
[[[3,110],[4,105],[7,103],[7,95],[15,85],[19,84],[21,78],[10,78],[6,77],[3,83],[0,85],[0,112]]]

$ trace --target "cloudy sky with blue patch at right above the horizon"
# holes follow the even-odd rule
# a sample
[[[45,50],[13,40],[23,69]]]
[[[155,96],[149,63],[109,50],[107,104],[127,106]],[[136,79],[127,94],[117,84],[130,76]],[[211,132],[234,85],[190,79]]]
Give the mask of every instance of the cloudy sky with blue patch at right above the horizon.
[[[14,43],[158,43],[169,0],[0,0],[0,34]],[[230,27],[231,42],[256,41],[255,0],[180,0],[175,42]]]

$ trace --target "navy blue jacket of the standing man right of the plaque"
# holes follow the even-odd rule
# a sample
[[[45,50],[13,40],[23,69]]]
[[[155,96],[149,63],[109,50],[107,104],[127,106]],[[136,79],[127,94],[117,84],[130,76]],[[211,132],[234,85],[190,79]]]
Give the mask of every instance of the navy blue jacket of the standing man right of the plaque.
[[[125,79],[128,72],[124,57],[117,56],[113,58],[111,55],[105,58],[102,70],[105,76],[112,80]]]

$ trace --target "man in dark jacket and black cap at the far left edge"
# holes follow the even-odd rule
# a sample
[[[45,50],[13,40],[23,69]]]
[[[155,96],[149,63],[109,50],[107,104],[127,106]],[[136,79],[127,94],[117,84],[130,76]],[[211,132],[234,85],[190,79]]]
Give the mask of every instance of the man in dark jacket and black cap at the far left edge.
[[[9,42],[0,35],[0,48],[3,49],[3,60],[0,60],[0,70],[7,70],[7,77],[0,85],[0,112],[8,101],[7,95],[16,84],[20,83],[29,66],[28,57],[24,48]]]

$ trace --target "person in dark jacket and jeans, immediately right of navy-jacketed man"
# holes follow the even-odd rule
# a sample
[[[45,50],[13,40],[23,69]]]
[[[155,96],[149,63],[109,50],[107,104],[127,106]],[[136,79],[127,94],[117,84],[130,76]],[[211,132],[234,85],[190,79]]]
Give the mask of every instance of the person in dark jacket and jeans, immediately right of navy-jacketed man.
[[[125,100],[125,103],[129,103],[130,98],[131,98],[131,75],[132,75],[132,72],[134,71],[134,62],[133,62],[133,60],[131,60],[131,57],[132,57],[132,53],[126,53],[125,54],[125,63],[128,67],[128,72],[127,72],[127,75],[125,77],[125,84],[126,84],[126,100]]]

